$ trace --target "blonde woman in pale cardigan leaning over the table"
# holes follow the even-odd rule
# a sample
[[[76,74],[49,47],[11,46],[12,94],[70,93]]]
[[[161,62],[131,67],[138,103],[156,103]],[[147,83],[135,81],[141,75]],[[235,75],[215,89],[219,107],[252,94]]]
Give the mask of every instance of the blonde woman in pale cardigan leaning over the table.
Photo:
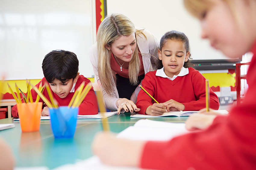
[[[116,111],[137,112],[134,104],[141,80],[156,70],[158,40],[145,29],[136,29],[129,18],[114,13],[100,24],[90,60],[105,106]]]

